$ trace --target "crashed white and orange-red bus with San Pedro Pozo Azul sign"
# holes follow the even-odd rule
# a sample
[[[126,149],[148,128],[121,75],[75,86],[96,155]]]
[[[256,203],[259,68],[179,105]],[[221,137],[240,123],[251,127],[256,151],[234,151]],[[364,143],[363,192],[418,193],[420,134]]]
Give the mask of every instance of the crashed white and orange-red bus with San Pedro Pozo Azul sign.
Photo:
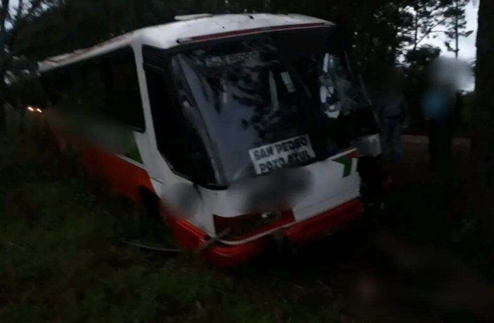
[[[157,196],[178,242],[207,244],[214,263],[245,262],[273,236],[313,240],[362,211],[356,142],[377,128],[328,21],[182,16],[40,73],[57,136],[121,193]]]

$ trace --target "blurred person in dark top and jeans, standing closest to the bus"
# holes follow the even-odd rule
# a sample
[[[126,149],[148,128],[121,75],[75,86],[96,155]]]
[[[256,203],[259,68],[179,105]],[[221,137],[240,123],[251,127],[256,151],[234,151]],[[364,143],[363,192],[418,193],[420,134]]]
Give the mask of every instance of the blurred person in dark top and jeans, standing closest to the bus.
[[[407,104],[397,78],[391,78],[385,86],[377,109],[383,156],[400,161],[403,154],[401,134],[406,122]]]

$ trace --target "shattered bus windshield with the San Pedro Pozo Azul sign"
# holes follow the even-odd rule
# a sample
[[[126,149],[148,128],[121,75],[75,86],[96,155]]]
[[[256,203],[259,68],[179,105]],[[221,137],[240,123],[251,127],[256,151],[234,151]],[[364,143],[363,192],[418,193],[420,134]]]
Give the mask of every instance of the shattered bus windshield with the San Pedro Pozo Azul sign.
[[[211,182],[310,164],[348,147],[337,121],[368,103],[330,30],[203,43],[171,57],[179,109],[208,155]]]

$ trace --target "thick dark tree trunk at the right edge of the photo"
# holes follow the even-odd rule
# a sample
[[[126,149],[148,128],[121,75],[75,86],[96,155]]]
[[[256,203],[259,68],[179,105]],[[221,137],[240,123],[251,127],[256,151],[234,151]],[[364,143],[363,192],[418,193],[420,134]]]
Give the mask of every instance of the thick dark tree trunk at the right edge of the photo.
[[[476,100],[472,155],[474,213],[494,242],[494,1],[480,0],[477,32]]]

